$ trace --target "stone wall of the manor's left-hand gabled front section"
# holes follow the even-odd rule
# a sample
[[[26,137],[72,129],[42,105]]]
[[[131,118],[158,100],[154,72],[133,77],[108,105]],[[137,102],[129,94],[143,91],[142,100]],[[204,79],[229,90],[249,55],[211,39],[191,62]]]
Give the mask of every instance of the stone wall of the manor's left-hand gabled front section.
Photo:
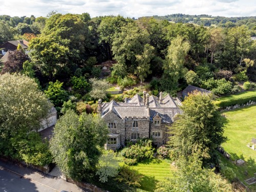
[[[124,145],[125,141],[125,128],[124,128],[124,120],[118,117],[114,112],[110,112],[103,118],[107,125],[109,123],[116,123],[117,129],[109,129],[110,133],[113,134],[120,134],[120,143],[121,145]]]

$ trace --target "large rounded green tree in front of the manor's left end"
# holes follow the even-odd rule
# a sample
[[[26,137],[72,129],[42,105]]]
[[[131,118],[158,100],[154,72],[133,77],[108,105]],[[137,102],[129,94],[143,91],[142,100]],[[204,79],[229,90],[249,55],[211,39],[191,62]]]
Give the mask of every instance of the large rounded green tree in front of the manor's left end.
[[[101,155],[99,147],[106,142],[108,127],[97,115],[80,116],[68,111],[54,127],[50,151],[61,172],[67,177],[82,180],[89,176]]]

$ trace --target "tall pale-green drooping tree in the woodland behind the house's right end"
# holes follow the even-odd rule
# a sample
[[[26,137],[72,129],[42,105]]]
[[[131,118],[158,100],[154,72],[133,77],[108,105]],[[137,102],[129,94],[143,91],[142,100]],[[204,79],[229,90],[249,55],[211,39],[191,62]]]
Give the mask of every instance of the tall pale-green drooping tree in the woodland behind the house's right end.
[[[171,41],[164,65],[165,75],[169,78],[167,90],[177,89],[178,80],[183,77],[184,62],[189,47],[188,42],[183,41],[182,37]]]

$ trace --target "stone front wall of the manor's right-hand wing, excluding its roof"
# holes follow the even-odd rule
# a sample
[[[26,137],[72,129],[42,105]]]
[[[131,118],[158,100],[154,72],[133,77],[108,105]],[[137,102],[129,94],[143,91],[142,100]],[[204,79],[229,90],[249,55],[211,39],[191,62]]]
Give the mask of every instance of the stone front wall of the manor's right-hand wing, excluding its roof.
[[[161,137],[159,138],[152,138],[153,139],[153,143],[157,144],[157,146],[161,146],[163,144],[166,144],[166,142],[168,141],[169,138],[169,134],[168,132],[168,126],[172,126],[172,123],[162,123],[160,126],[154,126],[154,122],[151,121],[150,122],[150,137],[152,137],[152,132],[161,132]]]

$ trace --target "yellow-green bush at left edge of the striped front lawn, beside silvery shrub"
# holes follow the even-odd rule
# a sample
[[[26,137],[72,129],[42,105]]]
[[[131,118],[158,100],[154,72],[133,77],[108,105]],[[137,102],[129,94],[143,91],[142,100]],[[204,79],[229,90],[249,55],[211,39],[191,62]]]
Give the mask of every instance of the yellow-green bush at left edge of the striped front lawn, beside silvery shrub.
[[[123,165],[115,180],[126,183],[130,186],[139,187],[142,177],[143,176],[139,174],[137,170],[131,169],[127,165]]]

